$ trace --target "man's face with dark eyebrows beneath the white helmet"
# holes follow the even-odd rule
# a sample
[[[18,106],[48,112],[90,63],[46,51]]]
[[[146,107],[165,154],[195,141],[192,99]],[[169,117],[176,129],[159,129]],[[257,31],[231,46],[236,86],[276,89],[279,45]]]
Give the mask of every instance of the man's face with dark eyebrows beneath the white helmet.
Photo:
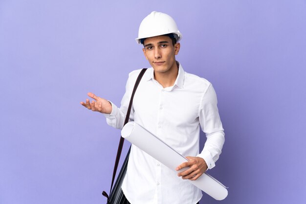
[[[168,36],[155,36],[144,41],[143,53],[154,72],[167,73],[173,71],[176,66],[175,55],[178,54],[180,44],[172,44]]]

